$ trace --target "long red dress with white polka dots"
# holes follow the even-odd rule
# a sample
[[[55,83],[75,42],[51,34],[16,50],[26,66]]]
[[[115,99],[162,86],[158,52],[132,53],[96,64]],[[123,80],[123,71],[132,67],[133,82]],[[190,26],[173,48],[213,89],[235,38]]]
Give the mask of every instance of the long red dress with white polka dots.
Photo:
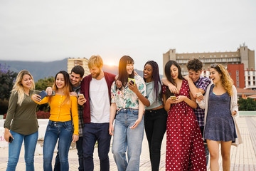
[[[162,92],[166,93],[166,87],[163,86]],[[178,95],[189,98],[187,81],[183,80]],[[193,109],[185,102],[172,104],[168,112],[166,170],[206,170],[201,131]]]

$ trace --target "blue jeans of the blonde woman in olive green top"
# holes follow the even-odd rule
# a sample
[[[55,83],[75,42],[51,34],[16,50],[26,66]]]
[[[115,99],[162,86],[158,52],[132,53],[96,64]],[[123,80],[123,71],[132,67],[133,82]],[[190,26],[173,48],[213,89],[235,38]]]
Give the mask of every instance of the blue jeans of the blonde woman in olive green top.
[[[26,171],[34,170],[34,155],[36,150],[36,142],[38,140],[38,131],[30,135],[21,135],[10,130],[11,135],[13,135],[13,142],[9,143],[9,158],[6,171],[16,170],[16,165],[18,163],[18,157],[21,152],[21,145],[24,139],[25,147],[25,162]]]

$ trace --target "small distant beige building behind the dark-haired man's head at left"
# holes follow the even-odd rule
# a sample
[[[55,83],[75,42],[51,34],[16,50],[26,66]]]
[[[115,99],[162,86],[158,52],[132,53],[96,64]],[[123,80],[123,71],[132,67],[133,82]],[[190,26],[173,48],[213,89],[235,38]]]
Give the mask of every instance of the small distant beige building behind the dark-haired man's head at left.
[[[74,66],[82,66],[85,69],[85,76],[90,74],[88,68],[88,59],[87,58],[68,58],[68,73],[71,73],[71,70]]]

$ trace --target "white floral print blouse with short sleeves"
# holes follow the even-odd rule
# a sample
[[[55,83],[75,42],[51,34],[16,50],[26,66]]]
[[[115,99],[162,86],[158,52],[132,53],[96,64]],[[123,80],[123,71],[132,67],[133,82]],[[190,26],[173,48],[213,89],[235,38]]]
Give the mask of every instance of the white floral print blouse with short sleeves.
[[[139,92],[146,96],[146,84],[143,78],[136,75],[134,76],[134,80]],[[124,88],[122,88],[122,90],[117,88],[115,81],[112,83],[111,103],[116,103],[117,110],[122,108],[139,109],[139,98],[132,90],[129,89],[128,83]]]

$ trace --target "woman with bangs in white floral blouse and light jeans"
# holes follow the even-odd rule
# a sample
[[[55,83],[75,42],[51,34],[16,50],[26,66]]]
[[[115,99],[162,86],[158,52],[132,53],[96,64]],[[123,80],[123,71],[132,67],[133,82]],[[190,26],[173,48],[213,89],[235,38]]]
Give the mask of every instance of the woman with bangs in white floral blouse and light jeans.
[[[114,135],[112,152],[119,171],[139,170],[139,157],[142,152],[144,135],[144,104],[129,89],[128,78],[134,79],[139,92],[146,96],[146,85],[143,78],[138,75],[134,76],[133,59],[130,56],[123,56],[119,61],[119,76],[117,78],[122,81],[122,87],[117,88],[115,82],[112,84],[110,107],[110,135]]]

